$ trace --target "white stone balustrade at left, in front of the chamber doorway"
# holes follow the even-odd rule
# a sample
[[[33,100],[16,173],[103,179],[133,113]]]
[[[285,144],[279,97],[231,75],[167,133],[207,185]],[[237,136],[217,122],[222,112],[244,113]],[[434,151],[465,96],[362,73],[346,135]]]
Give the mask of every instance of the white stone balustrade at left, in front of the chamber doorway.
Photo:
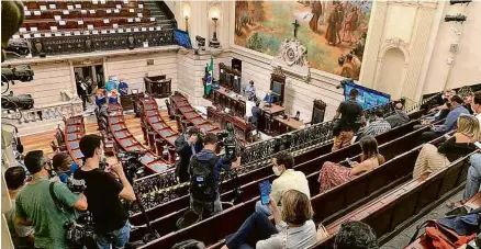
[[[24,136],[54,131],[58,124],[63,124],[64,116],[76,116],[82,113],[82,102],[74,99],[16,112],[2,110],[2,123],[15,125],[19,133]]]

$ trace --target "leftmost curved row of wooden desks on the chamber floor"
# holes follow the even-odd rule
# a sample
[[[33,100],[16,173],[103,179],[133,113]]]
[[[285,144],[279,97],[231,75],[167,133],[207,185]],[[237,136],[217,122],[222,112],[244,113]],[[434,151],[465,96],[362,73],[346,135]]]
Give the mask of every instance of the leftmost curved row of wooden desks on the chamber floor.
[[[82,165],[83,154],[80,151],[79,142],[83,135],[86,135],[86,126],[83,123],[83,116],[70,116],[64,118],[65,129],[64,139],[68,154],[75,160],[77,165]]]

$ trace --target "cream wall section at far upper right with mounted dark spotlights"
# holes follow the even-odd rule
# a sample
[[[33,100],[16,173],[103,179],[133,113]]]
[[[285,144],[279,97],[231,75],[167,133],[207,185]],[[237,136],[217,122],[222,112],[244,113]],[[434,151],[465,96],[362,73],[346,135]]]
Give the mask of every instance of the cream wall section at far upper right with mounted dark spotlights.
[[[446,14],[462,13],[465,23],[444,22]],[[427,69],[423,93],[481,83],[481,2],[469,5],[445,3],[443,19],[434,41],[433,55]],[[457,35],[455,30],[460,32]],[[459,43],[457,53],[449,52],[452,43]],[[447,60],[452,58],[451,65]]]

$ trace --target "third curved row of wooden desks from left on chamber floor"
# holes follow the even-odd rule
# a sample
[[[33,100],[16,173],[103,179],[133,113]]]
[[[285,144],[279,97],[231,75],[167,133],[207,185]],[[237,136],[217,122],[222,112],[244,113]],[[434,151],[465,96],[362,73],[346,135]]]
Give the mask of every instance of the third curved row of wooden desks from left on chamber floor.
[[[150,149],[157,150],[158,156],[163,156],[164,146],[168,147],[168,158],[170,163],[176,162],[176,140],[180,136],[169,125],[164,122],[158,112],[157,102],[154,98],[138,98],[137,102],[142,109],[142,122],[147,131],[147,142]],[[148,127],[148,128],[147,128]]]

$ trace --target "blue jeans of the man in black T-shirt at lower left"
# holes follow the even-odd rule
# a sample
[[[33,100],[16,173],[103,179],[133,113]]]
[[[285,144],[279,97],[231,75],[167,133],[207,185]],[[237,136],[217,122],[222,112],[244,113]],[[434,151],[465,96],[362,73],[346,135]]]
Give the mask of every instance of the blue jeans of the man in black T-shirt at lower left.
[[[97,241],[97,247],[99,249],[110,249],[110,245],[112,245],[113,249],[122,249],[125,244],[128,242],[128,238],[131,237],[131,224],[128,220],[125,222],[125,225],[118,229],[107,234],[97,234],[94,235],[94,239]]]

